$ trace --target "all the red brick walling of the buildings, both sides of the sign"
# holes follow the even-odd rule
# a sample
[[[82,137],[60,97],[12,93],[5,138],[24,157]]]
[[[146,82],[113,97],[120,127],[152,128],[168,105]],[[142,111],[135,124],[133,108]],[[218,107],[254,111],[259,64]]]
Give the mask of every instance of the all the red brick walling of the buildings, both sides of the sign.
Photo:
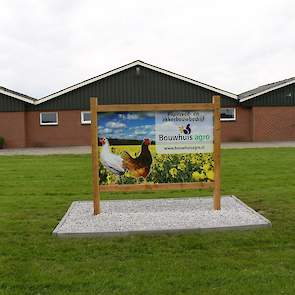
[[[58,111],[57,126],[40,126],[40,112],[1,112],[6,147],[90,145],[81,111]],[[295,107],[237,107],[235,121],[221,124],[222,141],[295,140]]]

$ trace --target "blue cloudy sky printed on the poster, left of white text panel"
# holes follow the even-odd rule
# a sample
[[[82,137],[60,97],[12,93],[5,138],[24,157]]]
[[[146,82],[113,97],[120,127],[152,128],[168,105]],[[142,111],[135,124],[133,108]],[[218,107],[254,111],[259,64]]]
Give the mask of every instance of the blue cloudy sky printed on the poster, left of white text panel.
[[[100,113],[99,137],[155,140],[155,114],[152,112]]]

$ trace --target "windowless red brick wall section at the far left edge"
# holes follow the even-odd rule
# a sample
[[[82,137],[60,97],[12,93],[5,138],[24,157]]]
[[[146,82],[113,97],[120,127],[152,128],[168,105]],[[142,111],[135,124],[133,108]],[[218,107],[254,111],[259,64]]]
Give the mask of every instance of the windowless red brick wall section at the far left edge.
[[[26,146],[24,112],[0,112],[0,136],[4,137],[5,147]]]

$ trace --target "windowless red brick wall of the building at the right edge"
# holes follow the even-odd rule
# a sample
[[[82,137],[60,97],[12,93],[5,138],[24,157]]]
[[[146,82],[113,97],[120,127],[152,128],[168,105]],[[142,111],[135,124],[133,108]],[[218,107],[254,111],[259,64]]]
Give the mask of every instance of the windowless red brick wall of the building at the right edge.
[[[253,107],[253,141],[295,140],[295,107]]]

